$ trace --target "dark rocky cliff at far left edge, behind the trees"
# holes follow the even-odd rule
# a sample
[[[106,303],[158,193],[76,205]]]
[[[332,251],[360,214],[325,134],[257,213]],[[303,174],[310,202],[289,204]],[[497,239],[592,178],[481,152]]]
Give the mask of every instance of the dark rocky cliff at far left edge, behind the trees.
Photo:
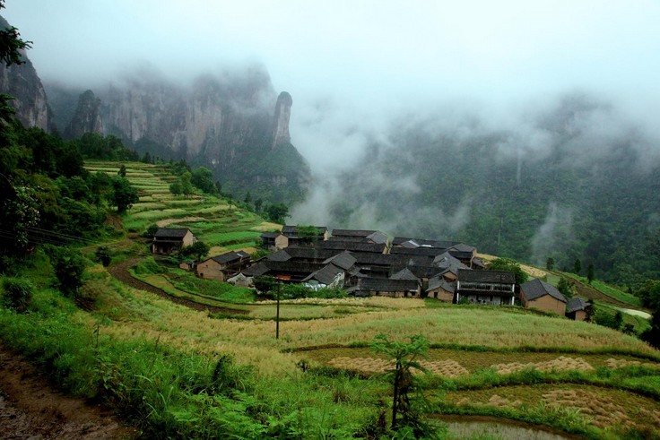
[[[9,23],[0,17],[0,28],[6,29]],[[37,126],[46,131],[53,129],[53,116],[44,86],[34,70],[27,55],[23,54],[25,64],[0,64],[0,93],[7,93],[14,97],[11,102],[16,110],[16,117],[25,126]]]

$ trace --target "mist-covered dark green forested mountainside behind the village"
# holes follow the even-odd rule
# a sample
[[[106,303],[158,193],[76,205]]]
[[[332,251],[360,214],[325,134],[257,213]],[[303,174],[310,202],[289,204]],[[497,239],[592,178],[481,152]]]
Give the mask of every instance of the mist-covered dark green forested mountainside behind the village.
[[[660,276],[660,165],[612,112],[577,95],[512,130],[473,118],[402,123],[339,177],[328,222],[367,218],[397,235],[541,266],[552,258],[559,269],[580,259],[637,288]]]

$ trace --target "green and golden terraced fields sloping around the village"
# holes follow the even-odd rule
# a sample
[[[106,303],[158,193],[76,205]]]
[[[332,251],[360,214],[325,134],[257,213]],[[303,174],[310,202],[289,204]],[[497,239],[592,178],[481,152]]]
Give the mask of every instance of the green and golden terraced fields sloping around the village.
[[[119,165],[86,162],[91,173],[109,175]],[[520,306],[262,298],[153,255],[145,231],[187,228],[210,246],[208,255],[254,255],[261,234],[281,225],[224,197],[171,194],[166,164],[126,163],[126,178],[139,201],[107,223],[100,241],[80,240],[88,257],[80,294],[65,298],[50,287],[51,273],[40,269],[48,255],[37,252],[22,267],[38,287],[30,312],[1,308],[0,334],[52,384],[103,402],[137,436],[420,436],[412,428],[387,434],[393,360],[374,349],[378,338],[405,348],[415,335],[427,345],[411,364],[409,392],[424,402],[428,436],[508,436],[457,434],[445,424],[474,420],[556,438],[660,436],[660,353],[634,335]],[[112,255],[108,266],[92,263],[99,246]],[[609,298],[603,290],[599,301]],[[620,293],[603,306],[639,308]],[[624,322],[648,326],[633,315]]]

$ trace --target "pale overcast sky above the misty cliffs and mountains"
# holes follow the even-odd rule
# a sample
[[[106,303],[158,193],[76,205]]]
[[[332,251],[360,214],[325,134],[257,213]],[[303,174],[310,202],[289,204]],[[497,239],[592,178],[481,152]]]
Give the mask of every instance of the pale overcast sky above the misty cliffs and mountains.
[[[634,117],[655,121],[660,102],[658,0],[6,0],[5,6],[5,18],[33,41],[29,56],[46,80],[93,85],[144,63],[190,79],[224,65],[262,63],[275,90],[293,97],[292,142],[306,155],[364,142],[364,134],[346,128],[346,114],[378,131],[382,116],[395,110],[473,102],[498,115],[507,106],[581,90],[618,99]],[[343,134],[332,139],[340,125]],[[326,132],[324,140],[314,129]]]

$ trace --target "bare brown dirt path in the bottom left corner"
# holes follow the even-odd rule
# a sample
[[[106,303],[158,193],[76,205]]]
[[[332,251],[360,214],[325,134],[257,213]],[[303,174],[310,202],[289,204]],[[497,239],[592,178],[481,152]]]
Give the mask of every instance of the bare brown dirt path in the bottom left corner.
[[[0,344],[0,438],[130,439],[139,436],[100,405],[67,397],[35,367]]]

